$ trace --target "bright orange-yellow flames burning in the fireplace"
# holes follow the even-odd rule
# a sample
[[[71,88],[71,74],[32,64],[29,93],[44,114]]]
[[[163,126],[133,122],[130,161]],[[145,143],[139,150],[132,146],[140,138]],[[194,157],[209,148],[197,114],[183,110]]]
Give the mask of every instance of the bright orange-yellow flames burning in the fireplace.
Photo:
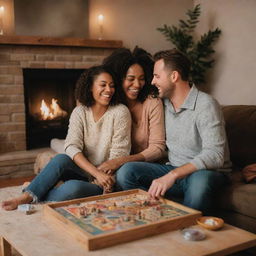
[[[56,99],[52,99],[52,104],[50,107],[45,103],[44,99],[41,102],[41,117],[43,120],[52,120],[57,117],[65,117],[67,116],[67,112],[61,109],[61,107],[58,105]]]

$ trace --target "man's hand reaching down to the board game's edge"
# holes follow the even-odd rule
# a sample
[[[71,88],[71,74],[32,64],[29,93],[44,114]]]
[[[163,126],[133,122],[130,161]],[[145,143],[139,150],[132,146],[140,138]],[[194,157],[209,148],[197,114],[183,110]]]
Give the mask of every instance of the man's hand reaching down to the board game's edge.
[[[150,197],[158,199],[160,196],[164,196],[165,192],[173,186],[175,180],[176,176],[172,172],[153,180],[148,190]]]

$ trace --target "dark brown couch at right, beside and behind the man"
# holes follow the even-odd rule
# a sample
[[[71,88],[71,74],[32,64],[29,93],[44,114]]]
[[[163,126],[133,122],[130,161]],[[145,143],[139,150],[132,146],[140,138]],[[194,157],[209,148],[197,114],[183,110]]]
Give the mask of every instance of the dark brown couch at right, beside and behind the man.
[[[256,106],[224,106],[231,183],[218,196],[217,214],[227,223],[256,233],[256,182],[246,183],[242,169],[256,163]]]

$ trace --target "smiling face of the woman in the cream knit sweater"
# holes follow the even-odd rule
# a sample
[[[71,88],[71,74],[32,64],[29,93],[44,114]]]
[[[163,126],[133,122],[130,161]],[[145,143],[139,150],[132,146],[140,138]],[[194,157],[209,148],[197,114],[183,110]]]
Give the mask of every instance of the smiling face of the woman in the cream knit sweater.
[[[115,86],[111,75],[104,72],[96,76],[91,91],[96,105],[108,106],[115,93]]]

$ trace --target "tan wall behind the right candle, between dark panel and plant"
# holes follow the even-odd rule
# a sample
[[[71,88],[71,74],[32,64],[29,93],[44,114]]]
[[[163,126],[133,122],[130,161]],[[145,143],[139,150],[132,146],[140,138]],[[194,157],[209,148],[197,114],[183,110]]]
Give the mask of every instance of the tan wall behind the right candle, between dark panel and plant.
[[[89,35],[99,37],[99,14],[105,16],[103,38],[123,40],[124,46],[136,45],[151,53],[172,47],[156,30],[163,24],[177,24],[192,0],[89,0]]]

